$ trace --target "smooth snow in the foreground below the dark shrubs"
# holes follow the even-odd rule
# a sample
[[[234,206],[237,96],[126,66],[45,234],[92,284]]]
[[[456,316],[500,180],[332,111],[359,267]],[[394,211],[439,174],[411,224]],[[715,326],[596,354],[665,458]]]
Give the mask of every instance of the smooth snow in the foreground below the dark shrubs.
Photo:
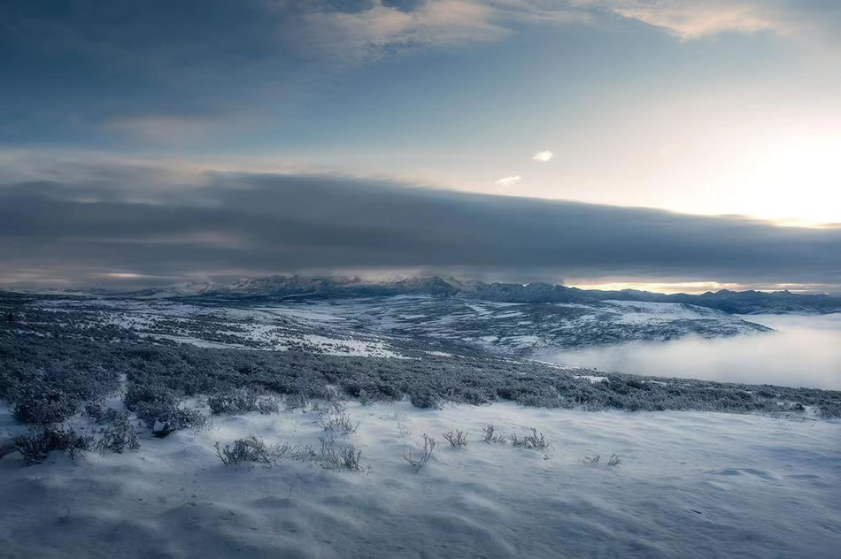
[[[513,404],[348,404],[368,475],[283,461],[225,467],[251,433],[318,444],[315,414],[217,417],[137,453],[25,468],[0,460],[4,557],[837,557],[841,425],[712,413],[589,413]],[[482,442],[534,426],[549,459]],[[18,429],[0,410],[0,433]],[[467,448],[440,433],[470,432]],[[423,433],[428,467],[404,461]],[[337,440],[344,443],[344,440]],[[600,454],[598,465],[585,455]],[[622,464],[608,467],[616,453]]]

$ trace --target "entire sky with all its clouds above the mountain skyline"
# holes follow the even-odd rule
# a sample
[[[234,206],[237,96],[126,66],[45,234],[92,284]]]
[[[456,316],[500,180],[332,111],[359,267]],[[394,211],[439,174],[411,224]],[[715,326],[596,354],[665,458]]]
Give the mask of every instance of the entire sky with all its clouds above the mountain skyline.
[[[7,0],[0,284],[841,291],[835,0]]]

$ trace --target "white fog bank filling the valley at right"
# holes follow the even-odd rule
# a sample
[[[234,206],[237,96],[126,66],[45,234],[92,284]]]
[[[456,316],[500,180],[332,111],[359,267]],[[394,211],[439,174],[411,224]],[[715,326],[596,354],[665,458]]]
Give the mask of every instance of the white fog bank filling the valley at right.
[[[641,375],[841,389],[841,314],[751,315],[775,332],[706,340],[632,342],[543,357]]]

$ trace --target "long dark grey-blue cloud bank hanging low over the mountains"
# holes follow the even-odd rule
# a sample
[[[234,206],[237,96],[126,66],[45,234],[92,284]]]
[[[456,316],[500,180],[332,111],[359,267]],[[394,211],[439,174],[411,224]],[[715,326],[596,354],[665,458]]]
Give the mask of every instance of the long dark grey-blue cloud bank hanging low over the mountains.
[[[21,173],[17,173],[20,175]],[[0,184],[0,281],[335,270],[841,285],[841,228],[112,164]]]

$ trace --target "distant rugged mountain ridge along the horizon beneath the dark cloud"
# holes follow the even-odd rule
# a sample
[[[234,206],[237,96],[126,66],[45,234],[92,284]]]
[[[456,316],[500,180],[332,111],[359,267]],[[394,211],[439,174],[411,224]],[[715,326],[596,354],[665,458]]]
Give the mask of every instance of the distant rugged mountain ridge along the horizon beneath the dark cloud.
[[[116,295],[116,294],[115,294]],[[267,276],[240,279],[230,283],[189,281],[119,294],[131,297],[374,297],[391,295],[435,295],[464,297],[496,302],[598,302],[606,300],[637,302],[678,302],[723,310],[734,314],[760,312],[829,313],[841,311],[841,297],[799,295],[789,291],[729,291],[722,289],[702,295],[665,295],[634,289],[600,291],[535,282],[485,283],[431,276],[405,279],[370,280],[343,276]]]

